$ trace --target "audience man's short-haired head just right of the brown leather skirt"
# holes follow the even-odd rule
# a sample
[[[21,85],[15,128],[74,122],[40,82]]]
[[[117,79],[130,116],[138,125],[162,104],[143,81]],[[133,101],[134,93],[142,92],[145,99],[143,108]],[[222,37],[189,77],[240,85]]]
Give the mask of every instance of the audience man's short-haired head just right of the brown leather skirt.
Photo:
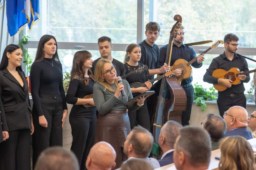
[[[128,158],[148,157],[153,147],[153,141],[153,136],[147,129],[140,125],[135,126],[124,142],[124,153]]]

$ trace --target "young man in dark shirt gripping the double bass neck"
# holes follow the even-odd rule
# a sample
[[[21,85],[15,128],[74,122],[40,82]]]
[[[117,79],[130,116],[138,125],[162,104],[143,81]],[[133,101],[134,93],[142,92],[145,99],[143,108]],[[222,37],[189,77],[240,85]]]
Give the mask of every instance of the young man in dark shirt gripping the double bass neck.
[[[164,64],[158,65],[159,61],[159,48],[155,41],[159,37],[160,26],[156,22],[149,22],[146,25],[145,35],[146,40],[139,43],[141,48],[141,58],[139,63],[147,65],[149,69],[150,79],[154,78],[155,74],[161,74],[165,70],[169,70],[170,66]]]

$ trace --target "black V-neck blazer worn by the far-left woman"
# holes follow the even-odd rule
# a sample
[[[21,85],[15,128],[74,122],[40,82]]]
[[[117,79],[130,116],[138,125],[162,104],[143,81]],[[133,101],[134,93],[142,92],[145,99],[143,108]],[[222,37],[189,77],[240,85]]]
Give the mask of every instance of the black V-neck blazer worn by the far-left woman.
[[[0,70],[0,97],[3,102],[4,114],[9,131],[31,129],[31,107],[28,97],[28,85],[25,73],[17,71],[24,86],[6,69]],[[3,114],[2,114],[3,115]]]

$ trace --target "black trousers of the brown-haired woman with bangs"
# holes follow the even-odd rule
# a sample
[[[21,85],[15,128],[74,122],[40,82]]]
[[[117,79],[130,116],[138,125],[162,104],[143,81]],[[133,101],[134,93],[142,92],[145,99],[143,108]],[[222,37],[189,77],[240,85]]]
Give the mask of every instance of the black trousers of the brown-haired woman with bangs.
[[[85,170],[85,161],[90,149],[95,144],[96,137],[96,113],[86,113],[83,118],[76,115],[69,115],[69,123],[71,125],[73,151],[78,159],[80,170]]]

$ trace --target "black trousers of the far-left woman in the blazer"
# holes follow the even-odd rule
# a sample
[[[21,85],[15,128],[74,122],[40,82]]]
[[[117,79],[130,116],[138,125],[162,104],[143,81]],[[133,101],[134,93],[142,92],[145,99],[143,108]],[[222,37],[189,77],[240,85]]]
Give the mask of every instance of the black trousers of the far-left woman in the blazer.
[[[9,131],[9,138],[0,143],[0,169],[30,170],[30,140],[30,129]]]

